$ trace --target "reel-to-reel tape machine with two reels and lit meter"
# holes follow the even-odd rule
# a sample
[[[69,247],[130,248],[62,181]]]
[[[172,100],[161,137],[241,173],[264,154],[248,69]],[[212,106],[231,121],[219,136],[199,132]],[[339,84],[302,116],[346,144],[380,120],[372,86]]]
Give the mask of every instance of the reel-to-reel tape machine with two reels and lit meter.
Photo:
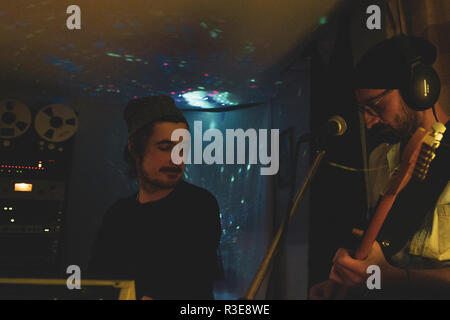
[[[0,101],[0,276],[56,276],[75,111]]]

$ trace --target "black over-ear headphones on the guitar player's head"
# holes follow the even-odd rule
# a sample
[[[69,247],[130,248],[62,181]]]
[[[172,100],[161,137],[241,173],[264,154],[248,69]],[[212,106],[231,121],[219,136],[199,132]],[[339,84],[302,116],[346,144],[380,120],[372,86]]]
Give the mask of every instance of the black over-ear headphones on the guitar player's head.
[[[424,111],[434,107],[437,102],[441,92],[441,81],[431,66],[436,61],[436,47],[425,39],[420,41],[431,49],[427,56],[419,54],[412,48],[409,37],[398,36],[400,50],[405,54],[405,68],[408,72],[400,92],[408,107]]]

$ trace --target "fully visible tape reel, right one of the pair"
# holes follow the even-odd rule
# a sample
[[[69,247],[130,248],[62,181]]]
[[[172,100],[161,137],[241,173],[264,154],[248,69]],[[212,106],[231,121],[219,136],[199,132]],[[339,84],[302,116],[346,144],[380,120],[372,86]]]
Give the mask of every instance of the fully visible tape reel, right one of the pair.
[[[34,128],[42,139],[62,142],[77,131],[78,117],[68,106],[50,104],[39,110],[34,120]]]

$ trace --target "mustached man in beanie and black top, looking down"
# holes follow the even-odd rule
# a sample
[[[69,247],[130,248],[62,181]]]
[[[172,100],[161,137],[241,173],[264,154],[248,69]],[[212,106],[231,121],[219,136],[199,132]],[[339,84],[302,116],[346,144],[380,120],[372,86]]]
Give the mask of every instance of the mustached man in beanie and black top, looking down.
[[[221,235],[219,207],[208,191],[181,177],[171,160],[176,129],[188,129],[168,96],[131,100],[125,160],[139,191],[103,218],[89,265],[91,277],[136,281],[138,299],[213,299]]]

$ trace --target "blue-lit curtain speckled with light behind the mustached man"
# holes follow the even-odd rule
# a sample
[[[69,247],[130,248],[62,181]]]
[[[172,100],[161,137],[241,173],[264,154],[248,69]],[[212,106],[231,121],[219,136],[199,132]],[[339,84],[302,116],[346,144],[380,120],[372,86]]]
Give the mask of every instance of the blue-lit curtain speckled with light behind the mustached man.
[[[267,105],[224,112],[185,112],[193,141],[194,121],[202,121],[203,133],[219,129],[225,145],[226,129],[270,129],[270,107]],[[270,141],[270,136],[268,136]],[[203,143],[203,150],[209,142]],[[248,152],[248,142],[246,142]],[[193,162],[193,147],[191,159]],[[269,149],[270,150],[270,149]],[[235,154],[236,155],[236,154]],[[225,147],[223,151],[226,159]],[[270,232],[266,232],[268,212],[267,182],[270,176],[260,174],[260,165],[188,164],[184,179],[209,190],[220,207],[222,237],[220,254],[224,280],[215,288],[216,299],[236,299],[245,295],[262,257]],[[235,161],[236,163],[236,161]]]

